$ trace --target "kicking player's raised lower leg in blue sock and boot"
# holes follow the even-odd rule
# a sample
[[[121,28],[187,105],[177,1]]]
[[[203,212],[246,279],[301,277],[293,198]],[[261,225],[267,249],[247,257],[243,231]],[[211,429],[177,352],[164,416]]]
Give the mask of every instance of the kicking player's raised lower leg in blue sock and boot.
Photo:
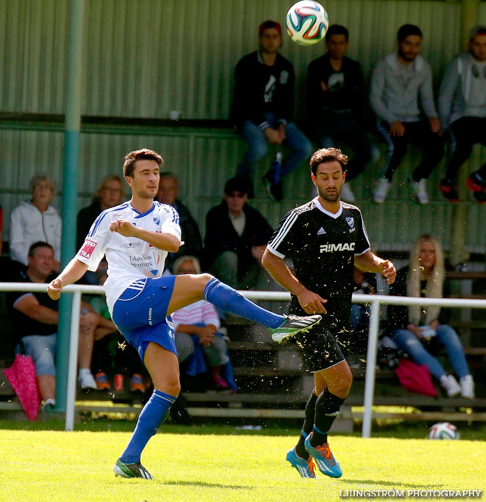
[[[322,319],[320,315],[300,317],[274,314],[247,300],[243,295],[215,277],[211,277],[207,282],[203,298],[224,312],[267,326],[272,339],[277,342],[282,342],[301,331],[311,329]]]

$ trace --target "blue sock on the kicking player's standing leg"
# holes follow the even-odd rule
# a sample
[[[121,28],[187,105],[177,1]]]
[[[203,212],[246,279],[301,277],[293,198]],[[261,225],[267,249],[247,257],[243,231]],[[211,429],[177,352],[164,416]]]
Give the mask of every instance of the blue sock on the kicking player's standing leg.
[[[149,439],[157,432],[169,414],[170,407],[177,398],[155,390],[140,412],[134,433],[120,457],[124,464],[140,462],[140,456]]]

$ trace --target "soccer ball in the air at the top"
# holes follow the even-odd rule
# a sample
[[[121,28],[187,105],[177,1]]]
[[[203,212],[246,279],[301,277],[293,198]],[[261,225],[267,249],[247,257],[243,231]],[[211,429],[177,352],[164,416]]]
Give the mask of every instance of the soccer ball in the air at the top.
[[[300,45],[313,45],[322,40],[328,26],[326,10],[312,0],[297,2],[287,13],[287,33]]]

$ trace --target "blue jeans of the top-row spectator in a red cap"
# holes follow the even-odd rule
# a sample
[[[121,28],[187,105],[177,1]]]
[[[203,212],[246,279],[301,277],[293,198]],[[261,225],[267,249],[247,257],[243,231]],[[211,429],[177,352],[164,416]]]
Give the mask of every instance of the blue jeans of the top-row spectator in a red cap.
[[[270,127],[276,127],[273,113],[264,113],[265,118],[270,123]],[[251,120],[246,120],[241,128],[241,136],[248,143],[248,151],[243,162],[238,166],[238,174],[251,174],[255,169],[255,164],[264,159],[268,154],[267,139]],[[292,150],[290,157],[282,162],[282,174],[286,176],[296,167],[299,167],[306,159],[312,155],[312,144],[306,136],[297,128],[294,122],[289,122],[285,126],[284,145]]]

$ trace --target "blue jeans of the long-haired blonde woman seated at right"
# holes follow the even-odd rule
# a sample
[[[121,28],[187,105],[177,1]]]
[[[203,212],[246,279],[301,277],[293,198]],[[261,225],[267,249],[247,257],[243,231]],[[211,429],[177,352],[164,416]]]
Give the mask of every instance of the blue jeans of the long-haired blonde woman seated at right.
[[[437,327],[437,340],[447,350],[449,361],[459,378],[469,374],[464,350],[457,333],[447,324],[440,324]],[[408,329],[395,329],[392,331],[392,338],[397,345],[407,352],[417,364],[425,364],[430,374],[437,380],[447,374],[439,361],[424,347],[422,342]]]

